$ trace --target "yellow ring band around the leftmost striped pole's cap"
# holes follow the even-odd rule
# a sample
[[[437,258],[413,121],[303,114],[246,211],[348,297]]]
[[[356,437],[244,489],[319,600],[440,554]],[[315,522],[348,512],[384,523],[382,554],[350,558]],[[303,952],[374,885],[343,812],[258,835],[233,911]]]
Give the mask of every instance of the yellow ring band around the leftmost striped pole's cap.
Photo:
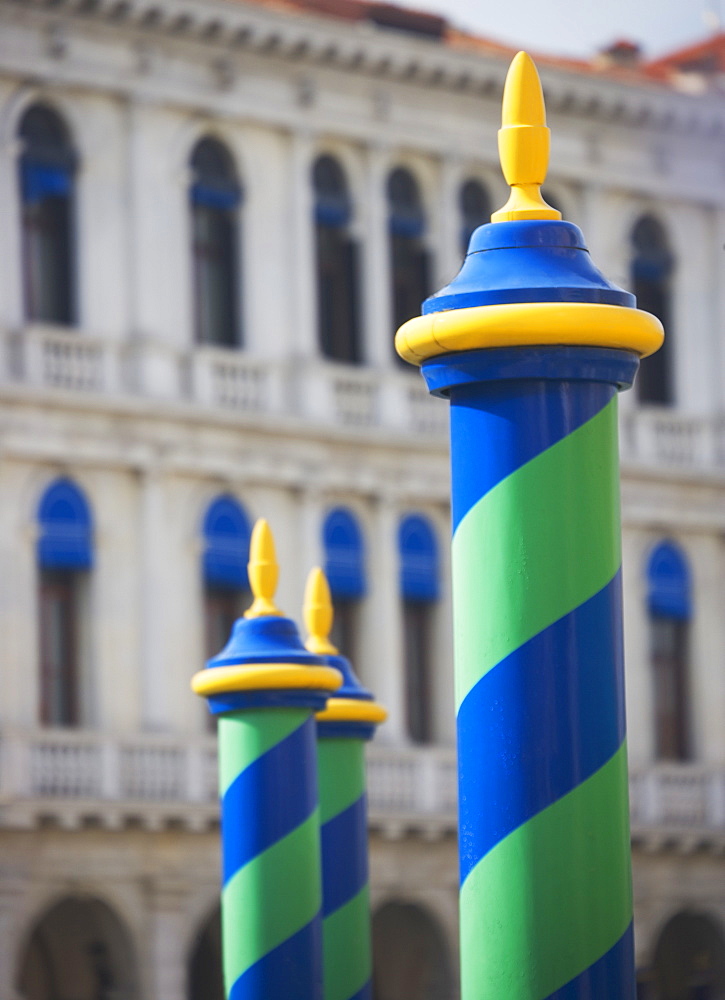
[[[253,663],[238,667],[209,667],[191,678],[196,694],[227,694],[231,691],[269,691],[284,688],[336,691],[342,674],[333,667],[303,667],[297,663]]]

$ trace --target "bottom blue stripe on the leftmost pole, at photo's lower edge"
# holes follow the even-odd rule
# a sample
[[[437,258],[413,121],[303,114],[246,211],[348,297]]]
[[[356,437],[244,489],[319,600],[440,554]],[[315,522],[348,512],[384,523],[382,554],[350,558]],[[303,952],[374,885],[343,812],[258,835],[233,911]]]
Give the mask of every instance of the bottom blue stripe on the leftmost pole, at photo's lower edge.
[[[243,972],[229,990],[228,1000],[320,1000],[321,955],[318,915]]]

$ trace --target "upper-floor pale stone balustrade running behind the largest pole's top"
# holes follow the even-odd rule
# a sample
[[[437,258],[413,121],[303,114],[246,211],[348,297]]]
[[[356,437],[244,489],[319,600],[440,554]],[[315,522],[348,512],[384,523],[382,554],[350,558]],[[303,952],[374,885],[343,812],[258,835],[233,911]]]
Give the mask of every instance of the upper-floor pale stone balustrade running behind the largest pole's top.
[[[139,386],[154,384],[152,378],[131,377],[123,344],[83,330],[31,324],[9,334],[5,346],[10,382],[111,394],[136,394]],[[323,359],[280,362],[211,345],[178,352],[176,367],[178,398],[191,405],[445,441],[448,407],[430,398],[414,373],[394,367]],[[725,474],[725,417],[627,407],[621,414],[620,450],[625,466]]]

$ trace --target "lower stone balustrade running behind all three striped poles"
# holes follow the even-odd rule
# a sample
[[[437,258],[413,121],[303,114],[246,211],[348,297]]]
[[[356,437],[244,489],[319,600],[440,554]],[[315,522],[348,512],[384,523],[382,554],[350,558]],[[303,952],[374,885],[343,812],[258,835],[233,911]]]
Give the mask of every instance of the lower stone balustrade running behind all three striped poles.
[[[371,826],[390,836],[453,833],[456,786],[450,747],[368,748]],[[635,839],[725,842],[724,769],[659,764],[633,771],[630,790]],[[213,736],[0,735],[0,825],[203,830],[217,821]]]

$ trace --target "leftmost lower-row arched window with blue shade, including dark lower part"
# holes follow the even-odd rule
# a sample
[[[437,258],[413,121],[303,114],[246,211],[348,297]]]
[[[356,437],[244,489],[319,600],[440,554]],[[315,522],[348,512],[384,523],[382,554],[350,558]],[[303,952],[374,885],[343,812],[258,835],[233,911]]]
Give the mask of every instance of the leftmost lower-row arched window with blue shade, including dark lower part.
[[[81,722],[87,577],[93,566],[93,520],[81,490],[58,479],[38,508],[40,721]]]

